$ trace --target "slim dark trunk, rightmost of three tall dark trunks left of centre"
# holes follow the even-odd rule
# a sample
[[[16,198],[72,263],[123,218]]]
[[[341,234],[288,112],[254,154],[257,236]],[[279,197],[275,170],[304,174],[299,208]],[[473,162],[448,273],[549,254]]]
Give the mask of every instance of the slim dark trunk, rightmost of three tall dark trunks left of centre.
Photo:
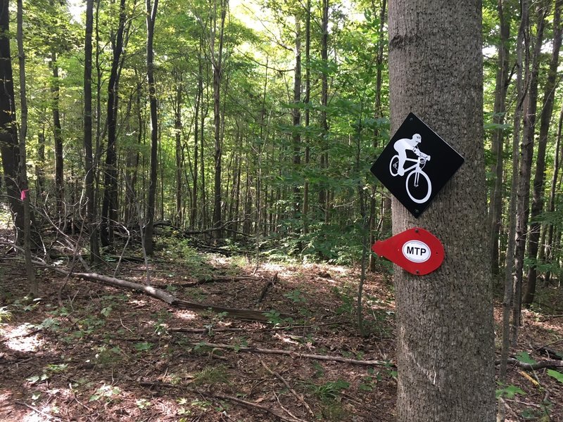
[[[147,255],[153,255],[153,231],[155,215],[155,198],[157,184],[158,166],[158,116],[156,103],[156,87],[154,82],[154,23],[156,20],[156,10],[158,0],[154,0],[151,7],[151,0],[146,0],[146,79],[148,82],[148,101],[151,107],[151,175],[148,180],[148,202],[146,205],[146,230],[145,230],[145,250]]]

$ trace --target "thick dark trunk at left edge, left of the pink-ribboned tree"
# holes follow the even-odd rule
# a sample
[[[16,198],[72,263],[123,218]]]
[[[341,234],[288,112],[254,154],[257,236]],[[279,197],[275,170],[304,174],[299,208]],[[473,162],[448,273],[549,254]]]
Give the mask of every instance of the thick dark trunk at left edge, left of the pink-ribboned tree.
[[[15,128],[15,101],[13,94],[13,72],[10,53],[8,0],[0,0],[0,153],[4,186],[8,204],[14,217],[16,239],[23,241],[25,219],[23,204],[20,201],[20,147]]]

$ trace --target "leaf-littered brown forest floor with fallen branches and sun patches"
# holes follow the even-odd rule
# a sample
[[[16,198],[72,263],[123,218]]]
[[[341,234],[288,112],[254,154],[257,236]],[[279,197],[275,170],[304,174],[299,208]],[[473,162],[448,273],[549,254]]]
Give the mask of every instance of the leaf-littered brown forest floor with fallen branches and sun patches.
[[[41,298],[25,300],[23,264],[5,252],[0,421],[395,420],[389,276],[368,275],[365,338],[355,314],[358,268],[264,263],[254,272],[246,257],[185,245],[157,252],[153,286],[267,319],[247,321],[44,269]],[[117,276],[144,283],[144,264],[122,262]],[[524,310],[516,352],[540,361],[540,347],[563,350],[562,298],[562,289],[540,289],[542,305]],[[500,335],[500,303],[495,318]],[[507,421],[563,421],[563,383],[547,370],[509,366],[508,385]]]

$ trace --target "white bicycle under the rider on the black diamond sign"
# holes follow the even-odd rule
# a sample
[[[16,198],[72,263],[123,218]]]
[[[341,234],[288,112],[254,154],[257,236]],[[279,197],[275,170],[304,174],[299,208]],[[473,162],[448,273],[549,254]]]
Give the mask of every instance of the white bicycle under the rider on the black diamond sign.
[[[405,161],[412,161],[413,164],[410,167],[405,168],[404,174],[408,172],[407,180],[405,181],[405,187],[407,188],[407,195],[415,203],[422,204],[425,203],[432,193],[432,183],[428,174],[422,171],[426,161],[430,161],[430,155],[426,155],[415,148],[413,150],[415,154],[418,155],[417,158],[405,158]],[[391,161],[389,162],[389,172],[391,176],[395,177],[399,175],[399,155],[393,155]],[[421,179],[422,176],[422,179]]]

